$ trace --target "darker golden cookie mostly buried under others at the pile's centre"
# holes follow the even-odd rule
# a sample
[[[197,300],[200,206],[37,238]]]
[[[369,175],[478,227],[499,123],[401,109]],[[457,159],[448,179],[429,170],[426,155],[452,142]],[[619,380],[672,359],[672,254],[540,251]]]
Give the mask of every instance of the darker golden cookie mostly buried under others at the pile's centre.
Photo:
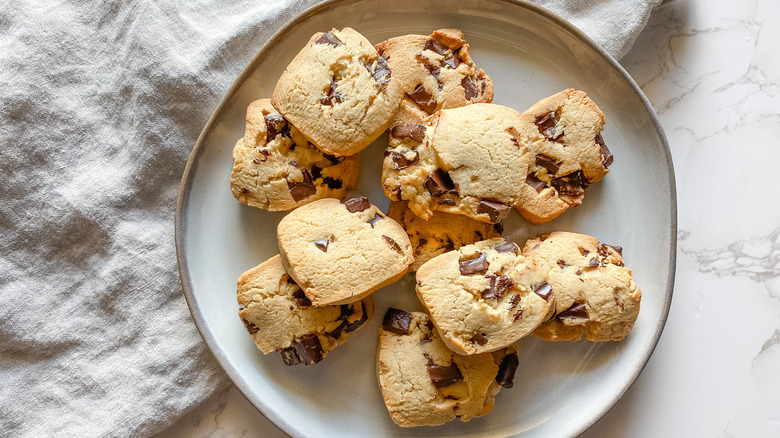
[[[388,216],[398,221],[409,235],[414,249],[414,263],[409,271],[416,271],[423,263],[447,251],[480,240],[501,237],[501,222],[488,224],[459,214],[434,212],[428,219],[412,213],[406,202],[391,202]]]

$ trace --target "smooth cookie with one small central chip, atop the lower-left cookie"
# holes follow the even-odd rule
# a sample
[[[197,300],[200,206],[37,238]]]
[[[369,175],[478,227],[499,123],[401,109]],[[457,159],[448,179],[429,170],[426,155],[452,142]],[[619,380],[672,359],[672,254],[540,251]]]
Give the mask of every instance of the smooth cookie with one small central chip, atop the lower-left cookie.
[[[414,261],[403,227],[362,196],[299,207],[279,222],[277,237],[287,272],[315,306],[358,301]]]

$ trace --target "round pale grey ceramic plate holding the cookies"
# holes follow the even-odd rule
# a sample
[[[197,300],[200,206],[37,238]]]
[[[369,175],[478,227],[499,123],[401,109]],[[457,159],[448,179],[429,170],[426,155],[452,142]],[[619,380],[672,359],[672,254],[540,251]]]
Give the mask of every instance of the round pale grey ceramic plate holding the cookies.
[[[402,429],[393,424],[376,383],[375,351],[389,305],[422,310],[407,275],[373,297],[376,316],[316,366],[286,367],[263,356],[237,316],[236,280],[277,253],[284,213],[238,203],[231,195],[231,151],[243,136],[253,100],[270,97],[282,70],[318,31],[353,27],[378,43],[406,33],[457,27],[478,66],[495,83],[495,103],[522,111],[564,88],[579,88],[606,115],[603,137],[615,156],[610,174],[583,205],[532,226],[512,213],[505,237],[522,243],[552,230],[590,234],[621,245],[642,309],[621,342],[519,342],[515,387],[489,415],[469,423]],[[382,136],[361,152],[353,193],[387,209],[379,175]],[[671,302],[676,243],[674,176],[666,139],[628,74],[561,18],[517,1],[331,1],[303,13],[260,50],[204,128],[182,179],[176,245],[182,285],[195,323],[236,386],[271,421],[294,436],[573,436],[601,418],[634,382],[663,329]]]

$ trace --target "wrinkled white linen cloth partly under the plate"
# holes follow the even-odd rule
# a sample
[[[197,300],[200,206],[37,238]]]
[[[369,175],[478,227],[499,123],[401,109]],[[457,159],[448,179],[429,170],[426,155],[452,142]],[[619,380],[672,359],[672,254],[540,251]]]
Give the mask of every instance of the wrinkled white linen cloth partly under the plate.
[[[660,0],[539,0],[614,56]],[[229,384],[174,249],[222,94],[316,0],[0,6],[0,431],[146,436]]]

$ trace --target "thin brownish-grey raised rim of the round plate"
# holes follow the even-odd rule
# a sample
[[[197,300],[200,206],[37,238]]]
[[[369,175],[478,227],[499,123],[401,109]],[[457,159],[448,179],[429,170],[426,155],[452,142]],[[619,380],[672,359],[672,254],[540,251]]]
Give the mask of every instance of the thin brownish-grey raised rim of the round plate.
[[[200,311],[197,299],[195,298],[194,295],[194,291],[192,288],[192,281],[189,274],[189,265],[187,262],[187,256],[185,251],[185,246],[187,242],[184,237],[187,227],[184,219],[185,217],[188,216],[189,198],[191,194],[192,180],[194,178],[194,175],[196,173],[196,168],[197,168],[195,162],[203,153],[204,150],[203,143],[205,142],[205,139],[211,134],[211,131],[216,125],[219,115],[222,114],[228,102],[233,98],[233,96],[235,96],[238,89],[241,88],[241,86],[243,86],[246,80],[254,72],[257,65],[262,60],[263,54],[268,50],[270,50],[271,48],[273,48],[274,46],[276,46],[277,44],[279,44],[283,39],[284,35],[291,28],[298,25],[300,22],[303,22],[309,19],[310,17],[317,15],[318,13],[323,12],[325,10],[335,9],[338,7],[347,6],[347,5],[360,3],[364,1],[370,1],[370,0],[325,0],[321,3],[310,6],[303,12],[296,14],[290,20],[286,21],[268,38],[268,40],[266,40],[265,43],[262,44],[262,46],[257,50],[255,55],[252,57],[250,62],[246,65],[246,67],[244,67],[244,69],[241,71],[238,77],[233,81],[230,88],[228,88],[227,92],[225,92],[225,94],[222,96],[222,98],[219,101],[219,104],[211,113],[211,116],[209,117],[208,121],[203,127],[203,130],[201,131],[200,135],[195,141],[195,145],[193,146],[189,158],[187,159],[187,164],[182,174],[181,182],[179,184],[179,191],[176,198],[176,211],[174,216],[174,240],[176,246],[176,260],[177,260],[178,271],[179,271],[179,280],[182,286],[182,290],[184,292],[185,300],[187,302],[187,307],[190,311],[190,315],[193,319],[193,322],[195,323],[195,327],[198,329],[198,333],[200,333],[201,338],[203,338],[204,342],[206,343],[206,346],[209,348],[212,355],[214,355],[214,358],[217,359],[217,363],[219,363],[219,365],[228,375],[228,377],[233,382],[233,384],[238,388],[241,394],[255,407],[255,409],[258,410],[258,412],[261,415],[265,416],[276,427],[278,427],[282,432],[284,432],[289,436],[303,436],[303,434],[295,426],[287,423],[280,416],[276,415],[276,413],[270,409],[268,404],[261,397],[255,396],[255,393],[249,388],[247,382],[245,382],[239,376],[233,364],[230,362],[230,360],[228,360],[227,354],[220,346],[220,344],[217,342],[214,334],[207,329],[205,319],[203,318],[203,313]],[[657,325],[656,331],[652,336],[651,347],[642,356],[640,366],[634,369],[633,373],[628,379],[628,382],[614,396],[611,403],[606,404],[601,410],[599,410],[596,413],[596,415],[591,417],[589,421],[581,424],[580,427],[574,431],[573,435],[571,435],[571,436],[578,436],[586,432],[591,427],[593,427],[593,425],[595,425],[607,413],[609,413],[609,411],[611,411],[615,406],[617,406],[617,404],[625,396],[628,390],[634,385],[637,378],[641,374],[642,370],[644,370],[644,368],[647,366],[647,363],[650,361],[650,357],[653,355],[653,352],[655,351],[656,347],[658,346],[658,342],[660,341],[661,335],[663,333],[664,327],[666,326],[666,322],[669,317],[669,309],[671,307],[672,295],[674,293],[674,283],[675,283],[676,266],[677,266],[677,261],[676,261],[677,260],[677,188],[676,188],[677,186],[675,180],[674,164],[672,162],[672,153],[669,148],[669,143],[666,138],[666,133],[664,132],[663,127],[661,126],[661,123],[658,120],[658,115],[656,114],[655,109],[651,105],[650,101],[642,92],[641,88],[639,88],[639,85],[637,85],[636,81],[634,81],[634,79],[631,77],[631,75],[628,74],[628,72],[623,68],[623,66],[620,65],[620,63],[618,63],[618,61],[615,60],[615,58],[613,58],[604,48],[599,46],[590,36],[585,34],[585,32],[583,32],[582,30],[574,26],[568,20],[535,3],[531,3],[526,0],[488,0],[488,1],[495,2],[495,3],[503,3],[509,5],[510,7],[518,7],[520,9],[530,10],[533,13],[539,14],[551,20],[556,25],[560,26],[563,30],[571,33],[575,38],[582,41],[588,48],[590,48],[591,50],[596,52],[597,55],[603,58],[603,60],[607,62],[609,67],[615,70],[620,77],[626,80],[631,90],[634,92],[634,95],[639,98],[640,102],[644,105],[645,110],[650,115],[650,119],[652,121],[653,127],[659,134],[659,139],[661,141],[661,146],[663,147],[663,152],[664,152],[663,156],[666,161],[665,164],[668,169],[667,183],[669,185],[669,198],[671,202],[669,218],[668,218],[670,224],[670,239],[669,239],[670,257],[669,257],[669,264],[668,264],[669,276],[667,278],[667,288],[666,288],[666,293],[664,295],[664,301],[662,303],[663,314],[662,314],[661,321]]]

